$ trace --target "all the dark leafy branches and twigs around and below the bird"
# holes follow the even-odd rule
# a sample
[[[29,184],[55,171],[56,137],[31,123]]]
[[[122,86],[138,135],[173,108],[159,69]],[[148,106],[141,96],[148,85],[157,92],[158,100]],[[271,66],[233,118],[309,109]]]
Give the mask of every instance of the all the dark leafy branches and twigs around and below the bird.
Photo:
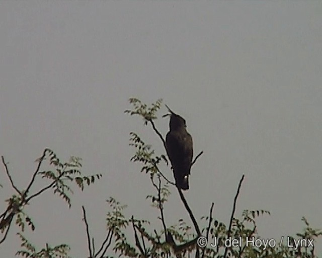
[[[142,103],[137,98],[130,98],[130,104],[133,109],[125,110],[125,113],[130,115],[138,115],[143,118],[144,125],[151,125],[152,130],[156,133],[158,138],[162,141],[164,147],[165,140],[162,134],[157,130],[154,120],[157,119],[156,112],[162,105],[162,100],[159,99],[152,103],[150,107]],[[256,219],[262,215],[270,215],[266,210],[244,210],[241,217],[236,217],[234,214],[236,202],[239,195],[239,190],[242,186],[244,175],[241,177],[235,198],[232,205],[232,213],[230,216],[229,225],[213,217],[214,203],[210,205],[210,211],[207,216],[201,217],[199,221],[196,220],[193,211],[191,210],[182,191],[176,187],[172,179],[169,179],[159,169],[160,165],[164,163],[169,165],[168,158],[165,154],[156,154],[152,146],[146,144],[144,139],[137,133],[130,133],[130,144],[135,148],[135,153],[131,157],[131,161],[140,162],[142,164],[141,172],[149,176],[151,184],[155,192],[146,196],[146,200],[151,203],[152,208],[159,212],[160,228],[157,230],[156,225],[151,225],[149,221],[138,219],[134,215],[126,217],[124,215],[126,205],[120,204],[115,198],[110,197],[107,200],[108,212],[106,215],[106,236],[102,239],[100,247],[96,250],[96,241],[91,235],[90,223],[87,219],[86,209],[83,206],[83,220],[85,223],[85,232],[87,235],[88,255],[89,258],[108,258],[108,257],[239,257],[239,258],[288,258],[288,257],[305,257],[316,258],[314,246],[309,245],[310,241],[320,237],[322,231],[313,229],[308,221],[303,217],[302,221],[305,224],[303,232],[297,233],[295,237],[286,236],[284,241],[277,242],[275,245],[252,245],[246,244],[247,239],[259,241],[261,237],[257,233]],[[165,150],[166,153],[166,150]],[[202,151],[195,157],[192,165],[202,155]],[[40,171],[40,166],[45,160],[49,158],[49,164],[53,166],[53,170]],[[0,215],[0,229],[3,233],[3,239],[0,244],[6,239],[13,219],[16,218],[16,224],[21,232],[25,229],[25,223],[35,230],[32,219],[24,212],[24,207],[30,205],[33,198],[38,197],[42,192],[53,188],[54,194],[58,194],[70,207],[70,197],[68,193],[72,193],[68,182],[74,181],[76,185],[82,190],[86,185],[95,182],[95,179],[100,179],[101,175],[82,176],[79,168],[81,168],[80,159],[71,157],[69,162],[60,163],[56,155],[49,149],[45,149],[42,157],[36,160],[38,166],[32,176],[31,182],[25,190],[18,189],[9,173],[7,163],[2,157],[6,174],[13,189],[17,192],[11,198],[7,199],[8,208]],[[31,185],[36,176],[46,178],[50,181],[46,186],[34,193],[29,193]],[[67,182],[67,183],[66,183]],[[178,219],[178,224],[168,225],[165,219],[165,214],[170,211],[165,210],[165,205],[171,197],[172,189],[177,188],[179,197],[187,210],[191,223],[187,223],[182,219]],[[200,230],[200,225],[202,225]],[[37,250],[21,232],[18,235],[22,242],[23,250],[19,250],[17,255],[32,258],[67,258],[69,246],[67,244],[60,244],[51,247],[46,244],[45,248]],[[132,232],[133,236],[129,235]],[[200,238],[201,237],[201,238]],[[238,245],[235,247],[225,246],[224,242],[227,239],[240,239]],[[207,245],[202,245],[200,239],[208,241]],[[288,242],[286,241],[288,239]],[[290,246],[302,239],[306,246]],[[265,240],[265,239],[264,239]],[[304,240],[306,242],[304,242]],[[209,243],[217,242],[216,246]]]

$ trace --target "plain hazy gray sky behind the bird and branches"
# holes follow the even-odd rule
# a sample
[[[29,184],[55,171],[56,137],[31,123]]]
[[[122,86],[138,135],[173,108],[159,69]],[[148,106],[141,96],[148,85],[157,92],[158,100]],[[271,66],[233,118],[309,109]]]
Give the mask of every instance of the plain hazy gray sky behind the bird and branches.
[[[0,146],[15,182],[26,186],[45,147],[103,174],[75,190],[70,210],[52,192],[37,198],[27,209],[36,231],[26,236],[38,247],[66,242],[85,257],[81,205],[100,244],[110,196],[129,205],[128,216],[154,221],[149,178],[129,162],[129,132],[164,150],[139,117],[123,113],[131,96],[163,98],[187,120],[195,153],[204,151],[185,193],[197,218],[214,202],[215,218],[228,223],[245,174],[236,215],[270,210],[260,236],[293,235],[302,216],[321,228],[321,13],[318,1],[1,2]],[[156,121],[164,135],[168,122]],[[13,193],[5,173],[0,183],[5,200]],[[168,224],[190,223],[172,191]],[[19,249],[16,231],[2,257]]]

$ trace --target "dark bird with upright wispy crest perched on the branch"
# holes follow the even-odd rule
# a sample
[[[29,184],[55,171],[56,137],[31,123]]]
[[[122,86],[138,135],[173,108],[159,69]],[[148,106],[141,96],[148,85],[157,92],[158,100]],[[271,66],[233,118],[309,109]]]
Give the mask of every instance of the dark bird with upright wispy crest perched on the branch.
[[[174,113],[167,105],[170,114],[170,131],[166,136],[166,150],[171,161],[176,185],[182,190],[189,189],[193,147],[192,137],[187,132],[186,120]]]

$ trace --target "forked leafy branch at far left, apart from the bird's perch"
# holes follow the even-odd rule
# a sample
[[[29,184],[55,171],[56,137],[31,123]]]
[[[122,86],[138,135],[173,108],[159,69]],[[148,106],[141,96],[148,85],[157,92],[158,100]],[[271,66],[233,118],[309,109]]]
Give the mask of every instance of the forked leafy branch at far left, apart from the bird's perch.
[[[53,170],[40,171],[41,165],[46,158],[49,159],[49,165],[53,167]],[[68,162],[61,163],[56,154],[52,150],[46,148],[43,151],[42,156],[35,161],[37,162],[37,167],[26,189],[20,190],[15,185],[9,171],[8,164],[5,162],[5,159],[2,156],[2,163],[4,165],[5,172],[9,178],[11,186],[18,193],[18,195],[13,195],[11,198],[6,200],[8,207],[0,215],[0,230],[2,233],[5,232],[2,240],[0,240],[0,244],[5,241],[15,216],[17,216],[16,224],[20,227],[21,231],[24,231],[25,223],[30,226],[32,231],[35,230],[35,225],[31,218],[24,212],[24,207],[30,205],[30,202],[34,198],[40,196],[44,191],[52,188],[54,190],[54,194],[58,194],[65,202],[67,202],[68,206],[70,207],[71,203],[68,193],[73,193],[73,191],[71,190],[71,186],[66,182],[74,181],[76,185],[83,190],[85,185],[84,182],[86,182],[87,185],[90,185],[95,182],[96,178],[101,178],[101,174],[82,176],[82,173],[79,170],[79,168],[82,167],[80,161],[80,158],[71,157]],[[37,191],[30,193],[37,176],[50,180],[50,183],[38,189]]]

